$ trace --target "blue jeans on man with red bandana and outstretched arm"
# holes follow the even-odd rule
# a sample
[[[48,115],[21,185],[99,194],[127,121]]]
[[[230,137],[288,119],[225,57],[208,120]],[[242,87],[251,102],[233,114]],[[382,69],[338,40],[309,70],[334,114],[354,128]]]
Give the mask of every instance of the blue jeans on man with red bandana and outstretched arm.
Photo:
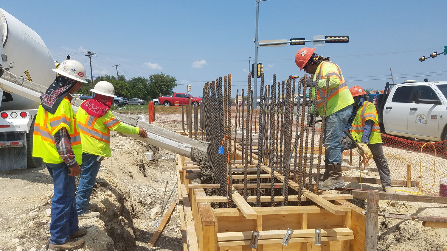
[[[82,153],[81,177],[76,194],[76,208],[78,215],[89,212],[90,196],[96,182],[96,176],[101,162],[96,161],[98,155]]]

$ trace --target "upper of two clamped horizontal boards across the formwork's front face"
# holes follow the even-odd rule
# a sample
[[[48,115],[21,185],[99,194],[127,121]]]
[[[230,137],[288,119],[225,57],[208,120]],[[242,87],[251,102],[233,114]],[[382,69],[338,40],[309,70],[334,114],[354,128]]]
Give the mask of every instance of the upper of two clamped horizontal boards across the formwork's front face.
[[[274,238],[284,238],[287,230],[264,230],[259,231],[258,240],[261,239],[274,239]],[[252,237],[252,231],[245,232],[227,232],[227,233],[217,233],[217,241],[237,241],[237,240],[250,240]],[[346,236],[353,235],[352,230],[349,228],[328,228],[321,229],[321,237],[327,236]],[[293,234],[291,238],[315,238],[315,230],[314,229],[299,229],[293,230]]]

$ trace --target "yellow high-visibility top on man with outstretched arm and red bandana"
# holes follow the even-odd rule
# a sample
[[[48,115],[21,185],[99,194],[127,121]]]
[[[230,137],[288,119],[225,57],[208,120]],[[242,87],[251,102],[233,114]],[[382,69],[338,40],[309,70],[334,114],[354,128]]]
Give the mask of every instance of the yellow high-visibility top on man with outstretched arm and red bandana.
[[[79,107],[76,117],[81,132],[82,151],[85,153],[110,157],[110,130],[126,134],[139,133],[138,127],[121,123],[111,111],[102,117],[94,117]]]

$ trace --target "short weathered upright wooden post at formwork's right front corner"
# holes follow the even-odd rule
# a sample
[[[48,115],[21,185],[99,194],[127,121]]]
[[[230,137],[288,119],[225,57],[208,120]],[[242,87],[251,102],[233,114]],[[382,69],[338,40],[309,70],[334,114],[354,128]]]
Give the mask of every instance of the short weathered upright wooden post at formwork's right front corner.
[[[367,207],[366,207],[366,240],[365,250],[377,250],[377,222],[379,218],[379,192],[367,192]]]

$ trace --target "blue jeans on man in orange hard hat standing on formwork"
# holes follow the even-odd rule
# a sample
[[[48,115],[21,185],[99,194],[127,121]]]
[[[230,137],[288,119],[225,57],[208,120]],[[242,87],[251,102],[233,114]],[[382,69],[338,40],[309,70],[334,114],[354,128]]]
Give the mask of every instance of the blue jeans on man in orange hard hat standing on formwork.
[[[342,163],[342,132],[351,117],[351,113],[352,105],[348,105],[326,117],[323,140],[326,151],[325,158],[329,160],[329,164]]]

